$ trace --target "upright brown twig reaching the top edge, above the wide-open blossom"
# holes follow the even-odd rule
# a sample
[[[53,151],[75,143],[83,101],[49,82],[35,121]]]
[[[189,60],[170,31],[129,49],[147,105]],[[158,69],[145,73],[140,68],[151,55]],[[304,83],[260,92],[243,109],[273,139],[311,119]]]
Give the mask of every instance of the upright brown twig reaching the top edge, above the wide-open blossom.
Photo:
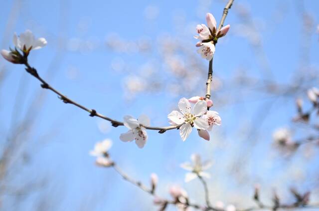
[[[221,20],[219,22],[217,31],[219,31],[221,29],[221,27],[223,27],[226,16],[228,14],[228,10],[230,9],[233,2],[234,2],[234,0],[229,0],[227,2],[226,6],[224,8],[224,11],[223,11],[223,16],[221,17]],[[216,44],[217,44],[217,41],[214,42],[215,46],[216,46]],[[207,76],[207,82],[206,82],[206,95],[205,95],[206,99],[210,99],[210,96],[211,96],[210,89],[211,89],[211,81],[213,79],[213,59],[214,59],[214,57],[209,61],[209,66],[208,66],[208,76]]]

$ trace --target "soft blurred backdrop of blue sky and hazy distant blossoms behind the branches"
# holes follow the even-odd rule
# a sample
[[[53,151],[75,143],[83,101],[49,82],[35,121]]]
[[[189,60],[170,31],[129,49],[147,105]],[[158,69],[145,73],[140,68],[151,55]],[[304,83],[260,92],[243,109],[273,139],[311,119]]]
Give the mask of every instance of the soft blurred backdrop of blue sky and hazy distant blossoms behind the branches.
[[[208,62],[193,38],[206,12],[219,22],[226,2],[119,0],[2,0],[0,47],[30,29],[47,46],[29,63],[53,87],[111,118],[146,114],[166,126],[181,97],[205,94]],[[270,203],[276,190],[292,202],[289,189],[311,191],[319,202],[318,143],[295,150],[273,143],[277,128],[294,139],[318,136],[316,114],[296,123],[295,100],[319,82],[319,1],[235,0],[214,56],[213,110],[222,125],[207,142],[193,130],[185,141],[178,131],[148,131],[143,149],[119,140],[125,127],[89,117],[42,90],[22,65],[0,58],[0,210],[150,211],[147,193],[122,180],[111,168],[94,165],[88,152],[97,141],[113,140],[110,151],[124,172],[145,184],[159,176],[158,194],[178,184],[192,202],[204,204],[199,181],[183,182],[179,167],[198,153],[212,160],[210,199],[238,208],[254,205],[254,186]],[[168,210],[174,210],[173,207]],[[314,209],[316,210],[316,209]]]

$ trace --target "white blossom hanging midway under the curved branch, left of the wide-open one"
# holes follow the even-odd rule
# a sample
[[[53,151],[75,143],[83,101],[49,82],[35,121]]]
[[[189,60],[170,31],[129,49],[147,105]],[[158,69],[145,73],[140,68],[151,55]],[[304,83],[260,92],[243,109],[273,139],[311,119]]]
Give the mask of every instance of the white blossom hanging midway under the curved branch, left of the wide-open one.
[[[143,148],[148,140],[148,134],[143,126],[149,125],[150,119],[145,115],[141,115],[138,120],[132,116],[125,116],[124,126],[127,127],[129,131],[122,133],[120,135],[120,139],[124,142],[131,142],[135,140],[136,145],[139,148]]]

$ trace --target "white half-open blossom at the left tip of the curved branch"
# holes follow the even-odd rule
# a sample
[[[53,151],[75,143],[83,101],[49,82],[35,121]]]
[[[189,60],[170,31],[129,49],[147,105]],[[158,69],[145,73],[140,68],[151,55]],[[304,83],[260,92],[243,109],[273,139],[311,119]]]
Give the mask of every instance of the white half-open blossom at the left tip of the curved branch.
[[[28,53],[30,50],[36,50],[44,47],[47,44],[47,41],[43,37],[35,39],[30,30],[25,30],[25,32],[21,33],[19,36],[14,33],[13,43],[16,48]]]

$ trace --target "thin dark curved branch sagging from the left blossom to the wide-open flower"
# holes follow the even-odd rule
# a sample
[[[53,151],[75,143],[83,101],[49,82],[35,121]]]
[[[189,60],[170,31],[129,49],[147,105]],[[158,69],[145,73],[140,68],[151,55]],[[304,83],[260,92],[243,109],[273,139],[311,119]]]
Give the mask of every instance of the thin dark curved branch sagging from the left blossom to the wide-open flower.
[[[33,77],[35,77],[36,79],[38,79],[42,84],[41,84],[41,87],[44,88],[44,89],[48,89],[48,90],[51,90],[52,92],[54,92],[55,94],[57,94],[59,96],[59,98],[64,102],[64,103],[69,103],[69,104],[72,104],[88,113],[90,113],[90,116],[91,117],[94,117],[94,116],[97,116],[99,118],[102,118],[104,120],[107,120],[109,122],[112,123],[112,126],[114,127],[117,127],[117,126],[123,126],[124,123],[123,122],[120,122],[118,120],[115,120],[115,119],[111,119],[103,114],[100,114],[98,113],[95,109],[89,109],[83,105],[81,105],[80,103],[77,103],[76,101],[70,99],[69,97],[67,97],[66,95],[62,94],[60,91],[56,90],[55,88],[53,88],[51,85],[49,85],[44,79],[42,79],[39,74],[37,73],[36,69],[31,67],[27,60],[24,62],[24,65],[26,66],[25,70],[30,73]],[[172,125],[172,126],[167,126],[167,127],[151,127],[151,126],[144,126],[144,125],[141,125],[143,127],[145,127],[146,129],[149,129],[149,130],[158,130],[159,133],[164,133],[166,132],[167,130],[172,130],[172,129],[178,129],[180,125]]]

